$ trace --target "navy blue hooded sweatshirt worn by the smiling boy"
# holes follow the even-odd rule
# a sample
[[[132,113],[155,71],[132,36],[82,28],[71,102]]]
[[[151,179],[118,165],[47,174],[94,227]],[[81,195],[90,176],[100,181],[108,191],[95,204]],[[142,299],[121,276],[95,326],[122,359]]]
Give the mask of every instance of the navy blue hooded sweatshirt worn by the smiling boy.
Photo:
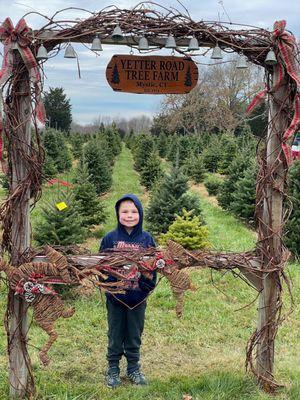
[[[133,228],[131,233],[128,233],[125,226],[119,222],[119,207],[120,203],[124,200],[131,200],[136,208],[138,209],[140,219],[139,223]],[[101,241],[100,252],[108,249],[135,249],[138,250],[141,247],[155,247],[153,237],[143,231],[143,207],[140,200],[134,194],[125,194],[122,196],[115,205],[118,226],[115,230],[107,233]],[[110,276],[107,282],[115,282],[117,279]],[[141,275],[138,279],[138,284],[131,288],[126,289],[125,294],[114,294],[111,295],[106,293],[112,301],[126,303],[129,307],[134,307],[141,303],[154,289],[156,283],[156,272],[153,273],[153,279],[148,279]]]

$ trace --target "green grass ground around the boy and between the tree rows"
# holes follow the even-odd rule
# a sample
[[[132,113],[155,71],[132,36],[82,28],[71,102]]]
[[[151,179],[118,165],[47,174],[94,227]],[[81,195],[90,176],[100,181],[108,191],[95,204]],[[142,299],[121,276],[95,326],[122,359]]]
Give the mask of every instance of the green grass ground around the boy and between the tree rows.
[[[120,195],[134,192],[147,195],[132,169],[132,159],[124,149],[116,161],[113,189],[105,196],[110,214],[105,230],[115,224],[113,205]],[[216,250],[244,251],[253,248],[255,233],[218,208],[201,187],[203,214]],[[36,217],[37,218],[37,217]],[[90,242],[97,249],[98,241]],[[299,264],[288,267],[294,285],[295,304],[300,302]],[[32,324],[29,348],[39,400],[266,400],[273,396],[260,391],[245,372],[245,347],[256,326],[255,293],[231,274],[194,270],[192,279],[198,290],[186,296],[181,319],[175,316],[175,301],[165,281],[160,281],[148,301],[142,346],[142,365],[149,385],[124,385],[114,391],[105,387],[107,325],[104,298],[99,293],[82,296],[74,290],[67,303],[76,307],[75,315],[57,323],[59,338],[50,351],[52,363],[40,366],[37,349],[46,335]],[[288,311],[288,295],[284,293]],[[5,312],[5,286],[1,283],[0,308]],[[238,311],[239,309],[241,309]],[[285,385],[278,400],[300,399],[300,314],[299,307],[284,322],[276,341],[276,371]],[[8,398],[6,334],[0,327],[0,399]],[[125,365],[123,364],[122,372]]]

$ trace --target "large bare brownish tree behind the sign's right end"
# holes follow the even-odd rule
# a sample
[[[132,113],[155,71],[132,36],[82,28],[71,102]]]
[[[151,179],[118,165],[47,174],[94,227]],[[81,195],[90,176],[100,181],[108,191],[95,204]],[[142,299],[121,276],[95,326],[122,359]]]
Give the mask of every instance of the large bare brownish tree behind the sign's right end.
[[[164,97],[160,118],[168,130],[234,132],[263,78],[256,66],[236,69],[236,61],[233,58],[200,71],[200,81],[189,94]]]

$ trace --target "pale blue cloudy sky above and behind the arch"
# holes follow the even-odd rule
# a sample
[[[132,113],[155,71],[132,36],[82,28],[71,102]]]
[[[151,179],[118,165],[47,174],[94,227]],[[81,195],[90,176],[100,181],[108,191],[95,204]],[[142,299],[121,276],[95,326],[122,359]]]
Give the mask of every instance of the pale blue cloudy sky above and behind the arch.
[[[272,30],[276,20],[287,20],[287,29],[300,37],[300,1],[299,0],[163,0],[158,4],[167,8],[176,8],[182,13],[183,4],[195,21],[229,21],[233,23],[249,24]],[[109,6],[131,9],[138,1],[118,0],[0,0],[0,22],[10,17],[14,24],[30,11],[52,16],[56,11],[67,7],[79,7],[89,11],[99,11]],[[89,14],[83,11],[67,11],[64,17],[88,18]],[[33,29],[39,29],[45,20],[37,15],[25,18]],[[63,58],[62,52],[49,59],[44,64],[44,90],[49,87],[63,87],[72,105],[73,121],[82,125],[93,123],[101,117],[132,118],[141,115],[152,117],[157,114],[162,95],[129,94],[114,92],[106,82],[106,66],[113,54],[129,54],[130,49],[125,46],[104,45],[104,51],[96,56],[88,48],[75,46],[79,58],[81,79],[78,77],[76,60]],[[2,63],[3,47],[0,46],[0,63]],[[135,52],[135,54],[138,54]],[[166,50],[152,53],[164,55]],[[196,61],[201,61],[196,58]],[[201,74],[201,68],[199,73]]]

